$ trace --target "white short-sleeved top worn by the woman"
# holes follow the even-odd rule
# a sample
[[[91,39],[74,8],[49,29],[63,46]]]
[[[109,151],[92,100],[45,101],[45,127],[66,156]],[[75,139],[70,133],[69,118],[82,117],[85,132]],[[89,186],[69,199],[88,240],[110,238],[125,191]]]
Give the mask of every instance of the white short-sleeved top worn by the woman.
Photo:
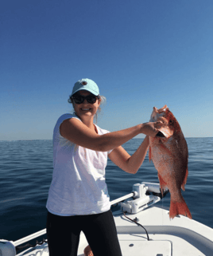
[[[54,215],[92,215],[110,210],[105,182],[107,155],[73,144],[60,135],[64,120],[79,117],[64,114],[53,132],[53,174],[47,209]],[[80,120],[80,119],[79,119]],[[99,135],[108,131],[95,125]]]

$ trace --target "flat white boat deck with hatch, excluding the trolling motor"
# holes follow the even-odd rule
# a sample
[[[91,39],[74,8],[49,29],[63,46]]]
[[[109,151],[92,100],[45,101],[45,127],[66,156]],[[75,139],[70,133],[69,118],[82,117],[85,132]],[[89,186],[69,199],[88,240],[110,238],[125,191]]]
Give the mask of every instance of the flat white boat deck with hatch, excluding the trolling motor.
[[[169,219],[168,211],[160,207],[150,207],[135,215],[127,214],[126,216],[130,219],[137,218],[138,223],[145,226],[149,241],[141,226],[126,219],[122,211],[114,212],[122,256],[213,255],[213,230],[208,226],[184,216]],[[82,233],[78,256],[83,256],[86,246],[87,239]],[[17,255],[48,256],[48,245],[44,243]]]

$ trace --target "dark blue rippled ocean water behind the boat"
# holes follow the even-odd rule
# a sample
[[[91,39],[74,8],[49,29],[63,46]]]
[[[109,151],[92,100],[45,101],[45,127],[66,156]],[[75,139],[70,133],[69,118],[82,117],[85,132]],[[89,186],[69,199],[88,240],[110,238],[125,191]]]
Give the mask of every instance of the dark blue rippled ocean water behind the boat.
[[[123,147],[132,155],[142,140],[132,139]],[[213,138],[186,140],[189,174],[182,194],[192,219],[213,228]],[[44,229],[52,180],[52,140],[0,141],[0,173],[0,239],[15,241]],[[148,156],[136,175],[108,160],[106,179],[110,200],[129,194],[134,183],[158,183]],[[169,203],[168,193],[157,205],[168,209]]]

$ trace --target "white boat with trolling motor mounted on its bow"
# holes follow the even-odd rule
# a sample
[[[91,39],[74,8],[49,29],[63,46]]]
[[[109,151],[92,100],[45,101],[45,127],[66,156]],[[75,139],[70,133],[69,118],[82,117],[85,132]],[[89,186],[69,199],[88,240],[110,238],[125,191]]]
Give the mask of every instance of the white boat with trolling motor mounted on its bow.
[[[182,215],[169,219],[167,210],[154,205],[160,200],[158,183],[137,183],[133,192],[111,202],[111,205],[121,206],[114,212],[114,220],[122,256],[212,256],[213,229]],[[0,240],[0,255],[48,256],[46,240],[21,253],[16,252],[20,249],[18,246],[45,233],[46,229],[15,242]],[[81,233],[78,256],[84,255],[86,246],[87,239]]]

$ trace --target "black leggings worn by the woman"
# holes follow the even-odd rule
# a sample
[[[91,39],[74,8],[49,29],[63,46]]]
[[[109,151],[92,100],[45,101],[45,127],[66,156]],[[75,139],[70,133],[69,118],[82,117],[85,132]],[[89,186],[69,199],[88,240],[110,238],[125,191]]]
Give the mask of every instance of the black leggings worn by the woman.
[[[122,256],[111,211],[77,216],[58,216],[48,212],[49,256],[76,256],[81,231],[94,256]]]

